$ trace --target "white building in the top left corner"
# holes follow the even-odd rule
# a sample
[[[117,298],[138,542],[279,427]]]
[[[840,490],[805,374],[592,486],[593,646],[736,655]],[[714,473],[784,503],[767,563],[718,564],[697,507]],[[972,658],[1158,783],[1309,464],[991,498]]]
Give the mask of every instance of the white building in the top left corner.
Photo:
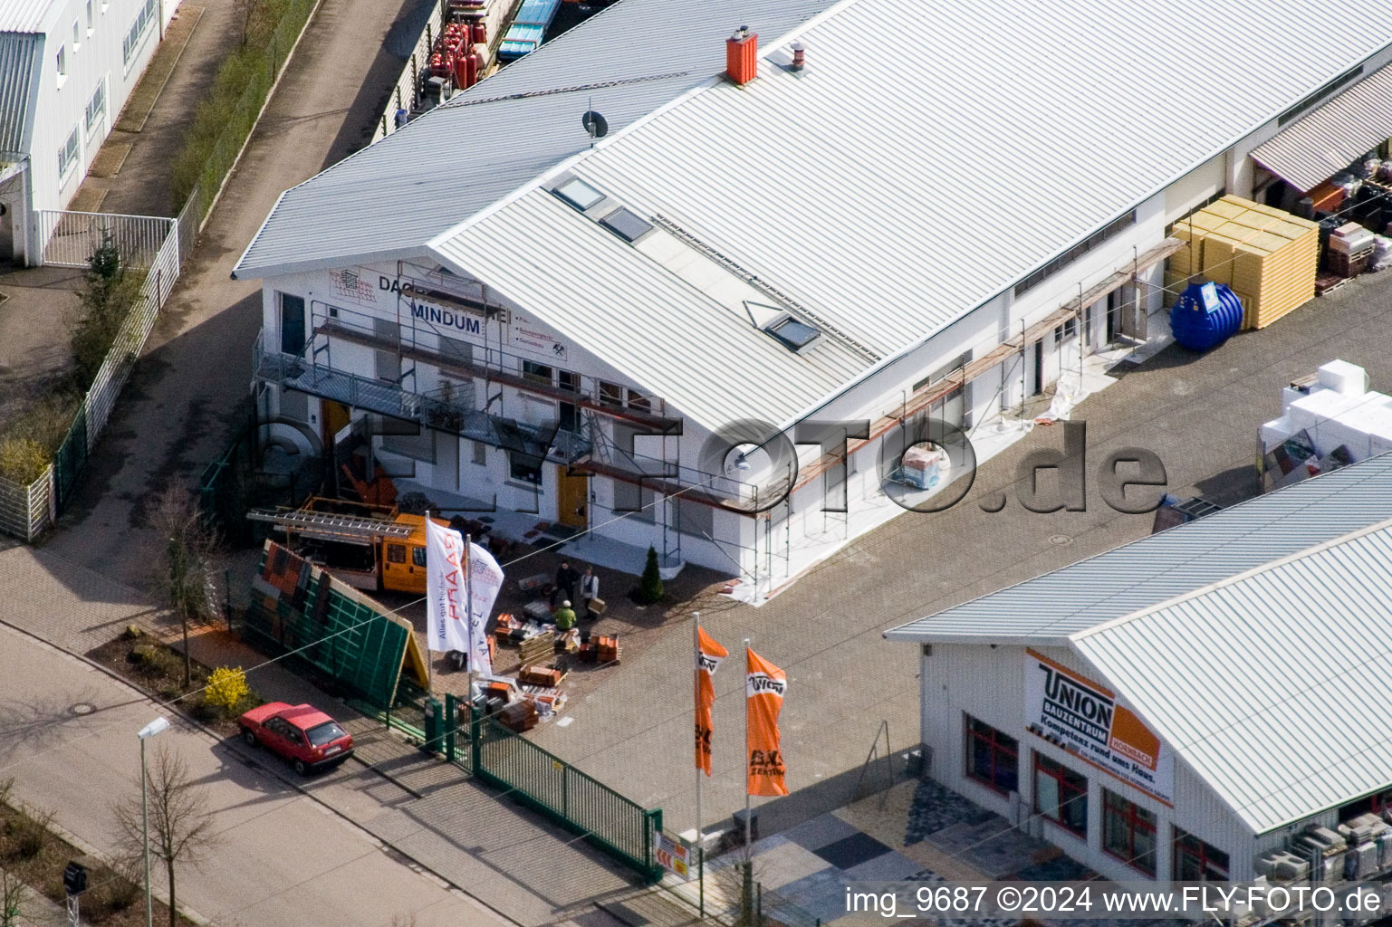
[[[0,262],[36,262],[178,3],[0,0]]]

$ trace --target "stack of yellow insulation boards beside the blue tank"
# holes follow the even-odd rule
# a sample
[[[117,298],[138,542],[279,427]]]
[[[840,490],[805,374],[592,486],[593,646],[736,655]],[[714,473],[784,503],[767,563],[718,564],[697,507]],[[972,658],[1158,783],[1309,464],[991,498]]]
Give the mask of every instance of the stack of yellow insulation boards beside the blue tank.
[[[1240,196],[1224,196],[1175,224],[1185,242],[1169,258],[1165,287],[1190,276],[1226,284],[1242,299],[1243,328],[1265,328],[1314,298],[1320,227]]]

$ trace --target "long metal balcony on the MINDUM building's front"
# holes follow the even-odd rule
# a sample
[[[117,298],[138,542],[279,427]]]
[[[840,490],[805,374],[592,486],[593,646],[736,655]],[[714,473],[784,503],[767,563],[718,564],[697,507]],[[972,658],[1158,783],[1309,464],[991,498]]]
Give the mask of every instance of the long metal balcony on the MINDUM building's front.
[[[296,390],[331,399],[351,409],[363,409],[406,422],[459,434],[507,451],[560,464],[572,464],[590,450],[580,434],[562,431],[472,408],[472,402],[441,395],[422,395],[395,383],[373,380],[291,354],[266,351],[259,337],[252,352],[253,376],[284,390]]]

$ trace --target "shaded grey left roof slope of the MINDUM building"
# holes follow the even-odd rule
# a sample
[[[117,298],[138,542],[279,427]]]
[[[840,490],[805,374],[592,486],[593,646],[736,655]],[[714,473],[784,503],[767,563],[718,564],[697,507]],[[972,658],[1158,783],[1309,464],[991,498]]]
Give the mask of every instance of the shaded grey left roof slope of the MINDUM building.
[[[423,252],[425,242],[725,68],[739,24],[780,35],[832,0],[622,0],[285,192],[237,274]]]

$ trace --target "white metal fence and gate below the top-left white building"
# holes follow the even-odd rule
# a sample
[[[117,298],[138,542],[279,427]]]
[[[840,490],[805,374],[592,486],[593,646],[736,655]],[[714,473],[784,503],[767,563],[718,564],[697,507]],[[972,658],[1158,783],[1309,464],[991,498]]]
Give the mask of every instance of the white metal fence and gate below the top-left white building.
[[[28,486],[0,477],[0,533],[25,541],[32,541],[47,530],[71,501],[78,476],[180,274],[178,220],[45,210],[39,221],[40,225],[47,223],[60,234],[58,238],[50,238],[45,248],[46,263],[86,267],[97,248],[111,244],[121,253],[122,264],[142,269],[145,280],[135,305],[117,330],[111,348],[74,413],[53,464]],[[163,238],[155,248],[150,248],[149,239],[152,230],[163,230]],[[82,252],[82,248],[86,251]],[[54,259],[50,259],[50,252]]]

